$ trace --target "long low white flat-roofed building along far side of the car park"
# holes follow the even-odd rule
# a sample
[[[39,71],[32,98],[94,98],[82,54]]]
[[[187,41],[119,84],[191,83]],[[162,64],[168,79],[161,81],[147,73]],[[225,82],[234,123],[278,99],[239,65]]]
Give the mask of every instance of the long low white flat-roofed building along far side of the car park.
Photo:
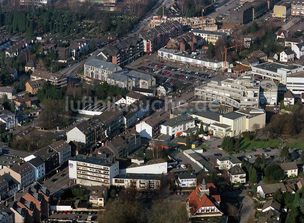
[[[207,68],[210,70],[223,70],[224,62],[216,61],[213,59],[206,58],[202,55],[188,54],[180,50],[170,50],[166,48],[161,48],[158,50],[157,58],[161,60],[174,61],[177,63],[188,64],[190,66],[197,66],[202,68]],[[226,62],[226,68],[230,65]]]

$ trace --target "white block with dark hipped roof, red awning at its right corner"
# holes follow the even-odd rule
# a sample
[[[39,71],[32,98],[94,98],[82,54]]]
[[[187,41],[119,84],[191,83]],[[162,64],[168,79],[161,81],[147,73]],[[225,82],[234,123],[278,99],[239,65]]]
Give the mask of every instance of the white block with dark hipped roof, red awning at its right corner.
[[[195,124],[192,117],[180,115],[167,119],[164,123],[162,123],[161,133],[174,137],[176,133],[191,129],[193,127],[195,127]]]

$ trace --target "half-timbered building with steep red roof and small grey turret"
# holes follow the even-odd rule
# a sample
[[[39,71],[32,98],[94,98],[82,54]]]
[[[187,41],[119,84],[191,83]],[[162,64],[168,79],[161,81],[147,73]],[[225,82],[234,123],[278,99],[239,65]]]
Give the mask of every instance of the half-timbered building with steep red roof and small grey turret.
[[[206,184],[205,179],[185,200],[189,218],[223,215],[219,207],[221,198],[217,195],[216,187],[213,183]]]

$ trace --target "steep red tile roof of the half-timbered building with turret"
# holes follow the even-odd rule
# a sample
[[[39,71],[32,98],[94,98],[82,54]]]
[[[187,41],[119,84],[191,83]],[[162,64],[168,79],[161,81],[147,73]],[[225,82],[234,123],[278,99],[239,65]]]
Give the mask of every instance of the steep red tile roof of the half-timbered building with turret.
[[[199,186],[185,199],[186,203],[189,204],[190,212],[194,215],[201,207],[219,207],[214,202],[220,202],[220,196],[216,194],[216,187],[213,183],[207,183],[209,189],[209,195],[206,193],[202,197],[199,197]],[[220,209],[219,209],[220,210]]]

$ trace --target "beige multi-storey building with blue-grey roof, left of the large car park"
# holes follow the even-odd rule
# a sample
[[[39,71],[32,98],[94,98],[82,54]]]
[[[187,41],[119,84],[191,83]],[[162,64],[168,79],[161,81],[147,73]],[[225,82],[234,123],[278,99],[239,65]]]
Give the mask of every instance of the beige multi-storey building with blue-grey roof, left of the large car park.
[[[118,65],[99,60],[98,57],[89,60],[84,65],[84,75],[86,77],[101,81],[107,81],[109,74],[120,70],[122,70],[122,68]]]

